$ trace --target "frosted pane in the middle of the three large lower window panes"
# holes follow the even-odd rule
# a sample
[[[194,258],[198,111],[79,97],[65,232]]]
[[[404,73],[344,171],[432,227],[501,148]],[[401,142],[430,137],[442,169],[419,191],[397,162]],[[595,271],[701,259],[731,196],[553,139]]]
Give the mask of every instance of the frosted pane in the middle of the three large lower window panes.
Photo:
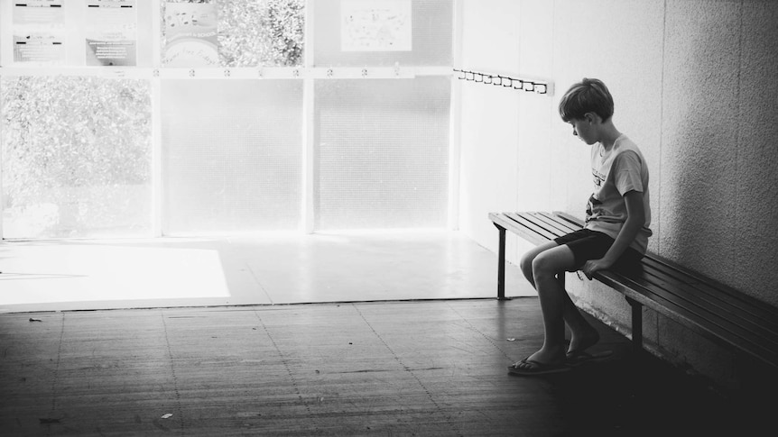
[[[302,82],[163,80],[162,232],[295,230]]]

